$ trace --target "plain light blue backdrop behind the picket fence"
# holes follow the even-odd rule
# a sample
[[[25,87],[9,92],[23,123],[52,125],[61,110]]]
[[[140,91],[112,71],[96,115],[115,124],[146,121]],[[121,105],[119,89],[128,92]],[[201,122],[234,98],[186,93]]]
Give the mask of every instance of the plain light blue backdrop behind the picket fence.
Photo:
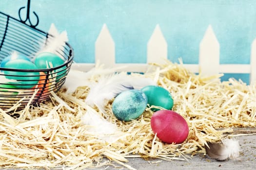
[[[0,0],[0,11],[19,18],[27,0]],[[147,42],[159,24],[168,58],[198,63],[199,43],[212,25],[220,44],[220,64],[249,64],[256,38],[256,0],[31,0],[37,28],[54,23],[66,30],[75,61],[94,63],[95,41],[104,23],[115,41],[117,63],[146,63]],[[25,10],[22,11],[25,17]],[[34,20],[33,20],[34,19]],[[225,75],[249,81],[248,74]]]

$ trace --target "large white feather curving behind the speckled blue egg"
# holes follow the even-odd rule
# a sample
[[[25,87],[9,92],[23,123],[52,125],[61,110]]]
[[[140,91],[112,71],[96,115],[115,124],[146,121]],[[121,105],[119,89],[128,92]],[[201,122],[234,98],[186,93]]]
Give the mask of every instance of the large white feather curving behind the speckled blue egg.
[[[122,91],[140,89],[146,85],[156,85],[150,78],[134,77],[126,73],[108,75],[90,85],[90,91],[85,102],[90,106],[96,105],[104,113],[106,101],[112,100]]]

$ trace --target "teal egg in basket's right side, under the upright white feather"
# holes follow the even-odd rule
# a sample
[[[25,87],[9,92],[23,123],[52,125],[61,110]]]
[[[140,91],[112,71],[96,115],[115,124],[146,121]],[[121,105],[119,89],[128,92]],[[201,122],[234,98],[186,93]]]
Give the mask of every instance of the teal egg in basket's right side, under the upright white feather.
[[[35,65],[39,69],[51,68],[50,63],[52,64],[52,67],[55,68],[64,64],[64,61],[58,55],[51,52],[42,52],[35,57]],[[56,79],[60,79],[61,77],[65,76],[65,71],[65,68],[56,69]]]

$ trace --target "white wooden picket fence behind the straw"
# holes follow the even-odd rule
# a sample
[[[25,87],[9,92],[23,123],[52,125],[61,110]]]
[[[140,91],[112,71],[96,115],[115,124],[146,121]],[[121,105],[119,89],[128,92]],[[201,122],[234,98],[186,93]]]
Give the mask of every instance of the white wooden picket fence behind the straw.
[[[167,59],[167,42],[157,25],[147,44],[147,63],[164,62]],[[144,72],[147,64],[125,63],[120,64],[115,61],[115,42],[106,24],[95,42],[95,61],[104,64],[105,68],[128,66],[124,71]],[[87,71],[95,66],[94,63],[79,63],[73,65],[73,68]],[[197,73],[199,69],[204,75],[213,75],[217,73],[248,73],[250,82],[256,80],[256,39],[251,46],[250,64],[219,64],[219,43],[216,35],[209,25],[199,45],[199,64],[184,64],[185,68]]]

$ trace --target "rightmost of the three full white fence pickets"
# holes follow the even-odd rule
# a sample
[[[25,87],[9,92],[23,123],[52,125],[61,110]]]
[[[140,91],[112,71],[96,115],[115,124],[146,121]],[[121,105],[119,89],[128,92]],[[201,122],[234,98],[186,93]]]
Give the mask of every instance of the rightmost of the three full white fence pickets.
[[[200,42],[199,67],[203,75],[219,73],[219,43],[211,25]]]

